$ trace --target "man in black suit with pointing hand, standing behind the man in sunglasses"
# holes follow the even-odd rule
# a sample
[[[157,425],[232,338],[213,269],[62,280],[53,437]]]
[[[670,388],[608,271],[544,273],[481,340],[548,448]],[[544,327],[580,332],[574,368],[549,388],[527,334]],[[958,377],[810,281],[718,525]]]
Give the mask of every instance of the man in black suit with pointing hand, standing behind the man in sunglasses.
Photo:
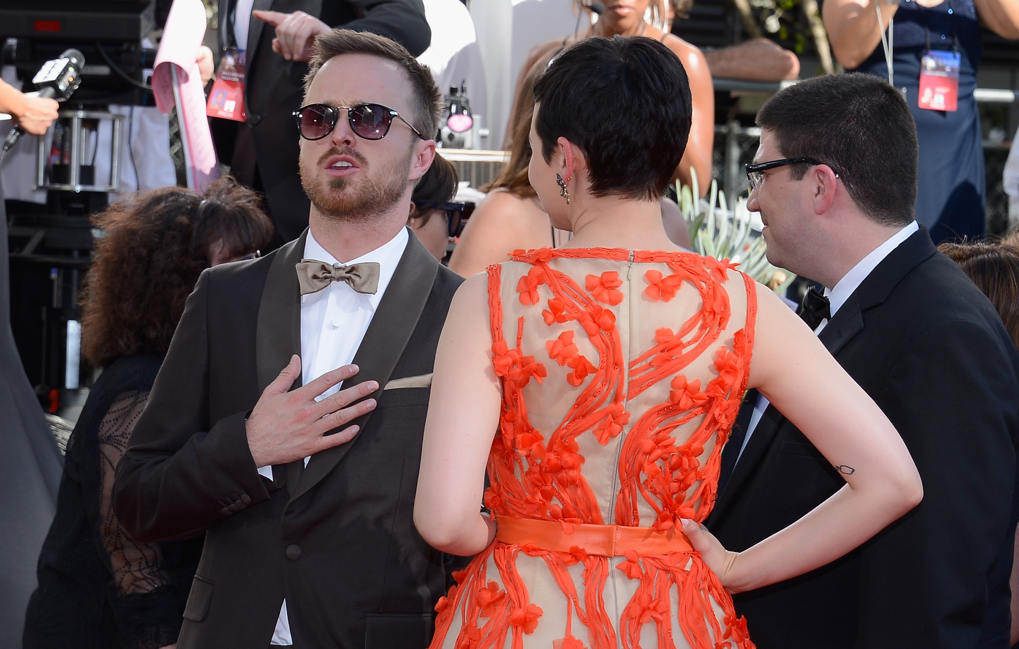
[[[290,113],[301,106],[312,43],[333,27],[384,36],[414,56],[431,43],[422,0],[219,0],[220,53],[247,52],[248,121],[213,118],[213,136],[231,173],[265,193],[278,234],[273,248],[308,227]]]

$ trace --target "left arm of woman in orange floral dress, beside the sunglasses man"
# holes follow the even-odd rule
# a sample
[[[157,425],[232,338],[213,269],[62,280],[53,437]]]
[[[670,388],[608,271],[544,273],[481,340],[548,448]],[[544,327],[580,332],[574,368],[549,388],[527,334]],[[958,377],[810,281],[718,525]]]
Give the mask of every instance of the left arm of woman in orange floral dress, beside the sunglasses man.
[[[495,538],[495,524],[481,514],[502,399],[488,317],[488,277],[475,275],[457,291],[439,338],[414,503],[425,541],[462,556]]]

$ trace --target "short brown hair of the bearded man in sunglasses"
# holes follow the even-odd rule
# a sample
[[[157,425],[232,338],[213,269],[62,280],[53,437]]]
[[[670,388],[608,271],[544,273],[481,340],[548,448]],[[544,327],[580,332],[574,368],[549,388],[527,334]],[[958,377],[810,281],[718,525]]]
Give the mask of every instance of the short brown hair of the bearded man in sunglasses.
[[[414,87],[414,101],[411,103],[414,115],[410,121],[425,137],[436,136],[439,130],[439,117],[442,115],[442,94],[435,85],[431,70],[418,63],[403,45],[384,36],[367,32],[333,29],[316,37],[314,51],[315,55],[308,63],[308,74],[305,75],[306,97],[319,69],[334,56],[368,54],[395,61],[407,72]]]

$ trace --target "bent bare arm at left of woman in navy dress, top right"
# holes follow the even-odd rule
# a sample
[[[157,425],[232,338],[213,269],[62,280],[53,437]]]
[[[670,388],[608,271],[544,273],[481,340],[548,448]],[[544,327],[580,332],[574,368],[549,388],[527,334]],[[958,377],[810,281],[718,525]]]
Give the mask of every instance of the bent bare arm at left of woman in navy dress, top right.
[[[872,2],[876,2],[881,11],[879,28]],[[880,45],[880,33],[888,28],[889,20],[898,8],[899,5],[883,0],[825,0],[821,18],[828,33],[832,52],[843,67],[853,69],[867,60]]]

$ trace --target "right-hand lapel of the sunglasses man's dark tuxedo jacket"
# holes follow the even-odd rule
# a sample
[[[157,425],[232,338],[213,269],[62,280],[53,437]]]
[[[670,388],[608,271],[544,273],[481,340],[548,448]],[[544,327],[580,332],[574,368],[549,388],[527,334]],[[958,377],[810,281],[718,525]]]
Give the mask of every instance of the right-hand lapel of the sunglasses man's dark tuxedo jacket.
[[[368,326],[368,331],[365,332],[365,337],[361,341],[361,347],[358,348],[358,352],[354,356],[353,362],[360,367],[360,371],[353,378],[343,382],[345,389],[366,380],[377,381],[379,389],[366,399],[378,399],[382,395],[383,387],[389,380],[389,375],[392,373],[393,367],[396,366],[396,361],[403,355],[404,348],[407,347],[407,342],[417,327],[418,318],[425,308],[425,302],[428,301],[432,284],[435,282],[435,276],[439,270],[439,263],[432,256],[432,253],[418,241],[413,232],[409,230],[408,233],[410,240],[407,242],[404,256],[400,257],[396,272],[382,295],[375,315],[372,316],[371,324]],[[297,285],[297,274],[293,273],[292,266],[290,272],[294,278],[293,283]],[[297,488],[290,493],[290,501],[318,484],[339,464],[340,460],[350,452],[351,447],[365,431],[371,415],[372,413],[362,415],[347,424],[347,426],[354,424],[360,426],[358,434],[353,439],[312,456]]]

